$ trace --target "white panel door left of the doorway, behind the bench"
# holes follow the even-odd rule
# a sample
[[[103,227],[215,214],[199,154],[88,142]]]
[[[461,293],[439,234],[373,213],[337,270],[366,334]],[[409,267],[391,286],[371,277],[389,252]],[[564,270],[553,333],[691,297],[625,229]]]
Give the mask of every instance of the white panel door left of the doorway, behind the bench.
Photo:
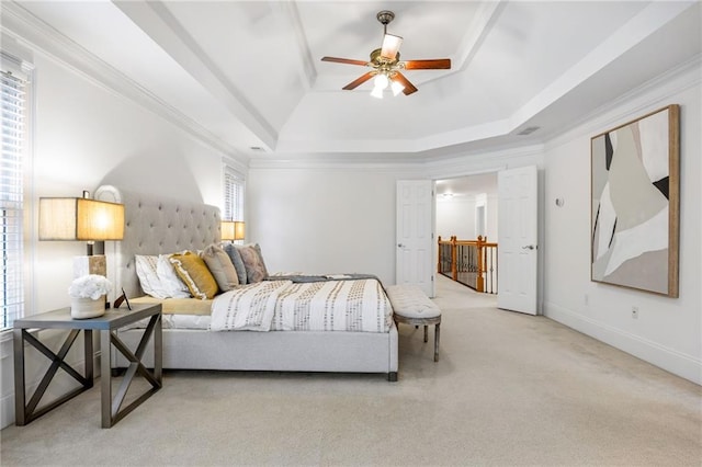
[[[397,182],[397,284],[414,284],[434,296],[433,181]]]

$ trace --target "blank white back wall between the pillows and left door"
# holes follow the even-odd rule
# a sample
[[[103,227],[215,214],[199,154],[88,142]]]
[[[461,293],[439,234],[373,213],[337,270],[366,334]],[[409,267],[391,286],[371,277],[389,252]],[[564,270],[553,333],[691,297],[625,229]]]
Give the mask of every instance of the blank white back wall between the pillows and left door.
[[[269,272],[370,273],[395,283],[395,181],[371,169],[250,169],[247,241]]]

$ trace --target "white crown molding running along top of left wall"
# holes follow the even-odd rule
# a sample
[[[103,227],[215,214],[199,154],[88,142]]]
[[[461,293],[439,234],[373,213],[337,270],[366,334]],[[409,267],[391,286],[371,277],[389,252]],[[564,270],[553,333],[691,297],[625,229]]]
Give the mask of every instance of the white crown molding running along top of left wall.
[[[229,159],[248,162],[248,158],[231,145],[66,37],[14,1],[2,2],[2,29],[3,32],[14,37],[19,43],[41,50],[49,58],[102,89],[149,110]]]

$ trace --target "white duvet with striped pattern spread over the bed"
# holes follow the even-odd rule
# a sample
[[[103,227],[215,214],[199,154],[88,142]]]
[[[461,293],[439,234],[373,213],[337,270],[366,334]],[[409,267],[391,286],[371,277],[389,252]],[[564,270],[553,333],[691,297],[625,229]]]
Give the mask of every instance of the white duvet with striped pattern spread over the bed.
[[[388,332],[392,316],[376,278],[263,281],[215,298],[211,330]]]

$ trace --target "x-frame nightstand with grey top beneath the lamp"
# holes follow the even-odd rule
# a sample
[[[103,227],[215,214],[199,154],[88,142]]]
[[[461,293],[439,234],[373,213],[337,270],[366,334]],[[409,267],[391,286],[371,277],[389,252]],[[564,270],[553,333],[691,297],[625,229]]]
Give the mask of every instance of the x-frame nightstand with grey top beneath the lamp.
[[[127,324],[149,318],[141,340],[137,349],[132,352],[117,337],[116,330]],[[44,345],[32,331],[35,329],[69,329],[63,345],[57,353]],[[83,331],[84,346],[84,376],[72,368],[65,358],[80,331]],[[70,308],[61,308],[39,315],[29,316],[14,321],[14,398],[15,398],[15,424],[19,426],[30,423],[49,410],[60,406],[67,400],[78,396],[93,386],[93,345],[92,331],[100,331],[101,351],[101,409],[102,428],[111,428],[137,406],[148,399],[162,386],[162,333],[161,333],[161,305],[136,305],[132,310],[110,309],[98,318],[72,319]],[[147,350],[150,337],[154,337],[154,371],[149,372],[141,363],[141,357]],[[26,402],[25,374],[24,374],[24,346],[25,343],[34,346],[52,361],[34,395]],[[112,348],[115,348],[129,362],[120,388],[114,399],[112,397]],[[72,376],[81,384],[56,400],[37,409],[37,406],[46,392],[48,385],[59,368]],[[129,389],[129,385],[136,375],[143,376],[151,388],[141,394],[126,407],[122,407]]]

